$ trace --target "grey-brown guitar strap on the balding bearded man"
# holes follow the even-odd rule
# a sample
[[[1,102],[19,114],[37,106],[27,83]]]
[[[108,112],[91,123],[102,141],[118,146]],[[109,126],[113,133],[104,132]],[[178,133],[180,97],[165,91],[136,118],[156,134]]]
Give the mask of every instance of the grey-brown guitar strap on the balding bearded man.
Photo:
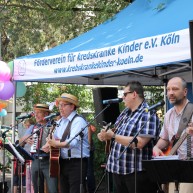
[[[185,106],[184,112],[182,114],[182,117],[180,119],[179,127],[178,127],[178,132],[176,134],[176,139],[179,139],[182,132],[184,129],[187,127],[188,123],[190,122],[190,119],[193,114],[193,104],[192,103],[187,103]]]

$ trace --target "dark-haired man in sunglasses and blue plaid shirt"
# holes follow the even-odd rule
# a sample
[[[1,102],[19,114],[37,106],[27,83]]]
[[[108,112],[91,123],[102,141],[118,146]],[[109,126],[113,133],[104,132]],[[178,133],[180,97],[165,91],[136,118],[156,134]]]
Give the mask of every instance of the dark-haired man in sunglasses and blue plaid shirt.
[[[159,119],[156,114],[146,111],[148,104],[139,82],[127,83],[124,88],[123,101],[126,108],[115,122],[115,131],[102,129],[98,134],[100,141],[111,140],[111,151],[106,169],[113,174],[118,193],[155,193],[157,192],[156,184],[148,179],[143,170],[142,160],[149,160],[152,157],[154,140],[158,135]],[[136,157],[134,143],[122,154],[141,128],[137,137]],[[135,159],[137,160],[136,167]]]

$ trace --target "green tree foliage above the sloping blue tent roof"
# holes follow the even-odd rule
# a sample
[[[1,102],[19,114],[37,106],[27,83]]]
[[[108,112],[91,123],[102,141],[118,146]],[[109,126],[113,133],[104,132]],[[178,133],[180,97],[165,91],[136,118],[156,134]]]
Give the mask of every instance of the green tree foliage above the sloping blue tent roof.
[[[2,0],[4,61],[52,48],[92,29],[129,4],[124,0]]]

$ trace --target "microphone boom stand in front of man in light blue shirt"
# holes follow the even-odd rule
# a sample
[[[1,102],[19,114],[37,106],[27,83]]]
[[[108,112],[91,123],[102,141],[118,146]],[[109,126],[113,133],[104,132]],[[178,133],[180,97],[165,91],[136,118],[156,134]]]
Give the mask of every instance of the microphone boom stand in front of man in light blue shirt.
[[[101,115],[108,107],[110,106],[110,104],[108,104],[105,108],[102,109],[102,111],[100,111],[94,118],[92,121],[90,121],[89,123],[87,123],[87,125],[85,127],[83,127],[81,129],[80,132],[78,132],[68,143],[67,145],[69,145],[78,135],[80,136],[81,138],[81,157],[80,157],[80,193],[83,193],[84,190],[83,190],[83,137],[84,137],[84,133],[83,131],[85,130],[85,128],[87,128],[99,115]]]

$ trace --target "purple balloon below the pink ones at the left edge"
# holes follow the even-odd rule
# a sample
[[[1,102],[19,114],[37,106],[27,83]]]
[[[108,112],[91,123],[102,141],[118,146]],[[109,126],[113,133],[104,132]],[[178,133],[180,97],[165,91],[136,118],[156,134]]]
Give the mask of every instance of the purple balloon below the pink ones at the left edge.
[[[4,82],[4,87],[0,91],[0,99],[1,100],[8,100],[10,99],[15,92],[14,85],[11,81],[5,81]]]

